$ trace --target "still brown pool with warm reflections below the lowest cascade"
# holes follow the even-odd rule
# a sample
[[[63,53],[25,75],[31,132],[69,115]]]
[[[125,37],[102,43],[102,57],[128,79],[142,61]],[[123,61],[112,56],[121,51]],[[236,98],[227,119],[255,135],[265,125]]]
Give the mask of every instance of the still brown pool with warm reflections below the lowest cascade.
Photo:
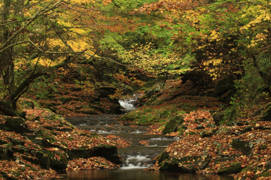
[[[214,174],[178,174],[171,172],[143,171],[138,169],[113,169],[113,170],[74,170],[63,171],[60,174],[66,174],[63,178],[51,180],[233,180],[227,176],[218,176]]]

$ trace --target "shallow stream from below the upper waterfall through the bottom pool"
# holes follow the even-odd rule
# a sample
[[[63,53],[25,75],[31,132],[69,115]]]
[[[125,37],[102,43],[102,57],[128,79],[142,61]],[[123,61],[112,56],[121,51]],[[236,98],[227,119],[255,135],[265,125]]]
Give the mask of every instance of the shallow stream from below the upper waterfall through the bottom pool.
[[[95,131],[102,136],[115,135],[131,142],[127,148],[118,148],[119,155],[125,160],[119,168],[101,170],[73,170],[59,171],[64,174],[63,178],[51,180],[70,179],[115,179],[115,180],[233,180],[231,177],[218,176],[214,174],[178,174],[174,172],[143,171],[151,167],[155,162],[152,158],[159,155],[164,148],[178,140],[179,137],[166,135],[145,135],[148,126],[122,126],[115,117],[120,115],[90,115],[87,117],[66,118],[77,128]],[[148,141],[149,145],[142,146],[140,141]]]

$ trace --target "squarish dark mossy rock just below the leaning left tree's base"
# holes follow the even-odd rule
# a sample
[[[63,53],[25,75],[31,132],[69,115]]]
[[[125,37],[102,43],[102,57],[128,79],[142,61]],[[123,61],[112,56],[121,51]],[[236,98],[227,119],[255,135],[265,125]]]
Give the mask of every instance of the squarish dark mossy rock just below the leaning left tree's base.
[[[15,131],[16,133],[24,133],[25,121],[23,118],[7,118],[5,122],[5,129],[7,131]]]

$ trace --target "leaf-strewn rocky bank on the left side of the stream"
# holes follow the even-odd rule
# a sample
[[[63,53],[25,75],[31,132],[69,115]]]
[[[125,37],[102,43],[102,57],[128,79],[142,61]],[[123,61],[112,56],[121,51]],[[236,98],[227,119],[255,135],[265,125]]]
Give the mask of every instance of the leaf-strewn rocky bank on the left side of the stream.
[[[0,115],[0,178],[59,177],[55,170],[110,169],[121,163],[117,146],[127,141],[83,131],[42,108],[27,119]]]

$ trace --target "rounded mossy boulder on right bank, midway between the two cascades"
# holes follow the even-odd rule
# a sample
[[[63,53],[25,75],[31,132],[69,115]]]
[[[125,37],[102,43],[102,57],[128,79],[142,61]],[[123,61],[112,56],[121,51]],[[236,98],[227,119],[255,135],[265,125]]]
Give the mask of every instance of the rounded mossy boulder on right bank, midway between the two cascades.
[[[163,135],[171,132],[177,132],[178,127],[184,122],[182,115],[173,116],[169,119],[165,128],[163,129]]]

